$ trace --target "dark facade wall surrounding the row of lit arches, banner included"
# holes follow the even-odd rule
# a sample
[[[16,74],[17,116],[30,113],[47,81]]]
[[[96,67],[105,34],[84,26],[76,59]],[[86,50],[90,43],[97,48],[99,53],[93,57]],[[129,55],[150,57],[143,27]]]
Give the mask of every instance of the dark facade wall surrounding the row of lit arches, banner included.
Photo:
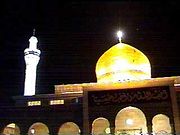
[[[161,92],[158,93],[158,90]],[[162,92],[163,90],[165,93]],[[149,133],[153,130],[152,120],[158,114],[163,114],[169,118],[172,133],[175,133],[175,119],[180,120],[180,117],[175,118],[173,114],[172,90],[169,86],[160,87],[160,89],[151,87],[150,89],[89,90],[84,93],[83,101],[82,95],[64,97],[39,95],[37,97],[18,98],[16,99],[16,106],[0,107],[0,131],[2,133],[5,126],[15,123],[20,129],[20,134],[26,135],[29,128],[38,122],[48,127],[50,135],[57,135],[59,128],[64,123],[73,122],[79,127],[82,135],[89,135],[92,131],[93,122],[100,118],[106,121],[106,125],[114,134],[117,114],[125,108],[134,107],[145,115]],[[119,92],[120,95],[116,98],[116,94]],[[108,97],[106,97],[107,95]],[[178,103],[180,103],[179,96],[179,94],[176,95]],[[63,99],[64,104],[49,105],[49,101],[54,99]],[[28,101],[37,100],[42,101],[40,106],[27,106]]]

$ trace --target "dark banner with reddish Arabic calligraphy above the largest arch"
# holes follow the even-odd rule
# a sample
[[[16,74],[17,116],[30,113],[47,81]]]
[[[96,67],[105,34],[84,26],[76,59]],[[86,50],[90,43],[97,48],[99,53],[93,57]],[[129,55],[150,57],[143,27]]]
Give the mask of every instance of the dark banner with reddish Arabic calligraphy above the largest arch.
[[[88,92],[89,105],[167,101],[168,99],[170,99],[169,86]]]

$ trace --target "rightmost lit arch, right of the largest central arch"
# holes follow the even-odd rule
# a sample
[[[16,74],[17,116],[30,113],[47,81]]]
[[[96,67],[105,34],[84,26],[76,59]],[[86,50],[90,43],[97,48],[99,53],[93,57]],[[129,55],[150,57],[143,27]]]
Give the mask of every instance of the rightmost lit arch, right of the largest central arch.
[[[171,133],[171,126],[169,117],[164,114],[158,114],[152,119],[152,131],[155,134],[169,134]]]

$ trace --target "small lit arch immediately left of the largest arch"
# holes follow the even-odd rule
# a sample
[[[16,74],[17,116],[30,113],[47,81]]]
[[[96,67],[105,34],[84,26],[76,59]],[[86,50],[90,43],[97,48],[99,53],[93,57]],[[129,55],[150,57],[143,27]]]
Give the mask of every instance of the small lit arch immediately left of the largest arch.
[[[110,124],[106,118],[99,117],[92,123],[92,135],[108,135],[110,134]]]

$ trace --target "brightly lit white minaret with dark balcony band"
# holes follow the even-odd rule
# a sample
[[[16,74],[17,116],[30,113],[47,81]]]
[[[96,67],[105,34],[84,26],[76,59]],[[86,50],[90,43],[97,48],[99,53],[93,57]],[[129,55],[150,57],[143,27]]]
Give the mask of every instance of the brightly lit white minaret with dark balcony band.
[[[37,38],[32,36],[29,39],[29,48],[24,50],[24,59],[26,62],[24,96],[35,95],[36,91],[36,68],[41,54],[41,51],[37,49],[37,42]]]

